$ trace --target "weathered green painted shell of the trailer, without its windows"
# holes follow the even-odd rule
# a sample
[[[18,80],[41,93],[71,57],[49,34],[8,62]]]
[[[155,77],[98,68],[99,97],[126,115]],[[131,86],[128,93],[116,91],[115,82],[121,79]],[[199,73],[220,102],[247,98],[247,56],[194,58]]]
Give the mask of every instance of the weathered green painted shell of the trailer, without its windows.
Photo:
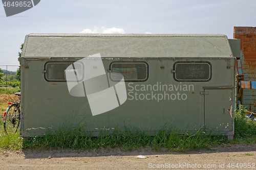
[[[44,66],[49,61],[77,61],[98,53],[103,58],[106,72],[113,61],[146,62],[148,79],[145,82],[125,82],[125,85],[127,93],[152,94],[152,100],[127,96],[129,99],[121,106],[92,116],[87,97],[70,95],[67,82],[48,82],[44,78]],[[24,113],[21,133],[24,136],[44,135],[46,129],[58,128],[72,120],[73,124],[82,121],[84,129],[92,135],[97,135],[99,129],[123,129],[124,126],[153,133],[166,125],[175,126],[182,132],[197,131],[201,127],[214,128],[218,134],[230,137],[234,133],[236,77],[236,58],[232,56],[225,35],[28,35],[20,58]],[[210,63],[211,79],[178,82],[174,79],[176,73],[172,72],[177,62]],[[166,98],[159,102],[154,100],[153,93],[161,93],[165,99],[166,91],[136,91],[136,87],[157,83],[175,87],[191,85],[193,89],[177,88],[178,92],[186,94],[186,100]],[[167,92],[177,93],[177,90]]]

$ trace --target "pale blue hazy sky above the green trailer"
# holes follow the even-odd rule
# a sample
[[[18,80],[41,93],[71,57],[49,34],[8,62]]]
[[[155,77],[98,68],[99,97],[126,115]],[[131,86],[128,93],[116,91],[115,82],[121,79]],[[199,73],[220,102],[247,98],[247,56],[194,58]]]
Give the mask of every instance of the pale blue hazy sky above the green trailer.
[[[41,0],[25,12],[6,17],[0,5],[0,65],[19,65],[19,46],[30,33],[225,34],[233,38],[234,26],[256,27],[255,7],[255,0]]]

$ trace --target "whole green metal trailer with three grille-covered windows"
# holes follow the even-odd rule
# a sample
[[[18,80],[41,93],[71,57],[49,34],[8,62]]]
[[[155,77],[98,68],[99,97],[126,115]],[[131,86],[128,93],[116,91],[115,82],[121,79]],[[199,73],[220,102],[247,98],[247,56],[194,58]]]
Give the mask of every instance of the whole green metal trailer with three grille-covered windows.
[[[232,44],[221,34],[29,34],[19,58],[20,134],[71,121],[93,136],[165,125],[232,139],[240,57]]]

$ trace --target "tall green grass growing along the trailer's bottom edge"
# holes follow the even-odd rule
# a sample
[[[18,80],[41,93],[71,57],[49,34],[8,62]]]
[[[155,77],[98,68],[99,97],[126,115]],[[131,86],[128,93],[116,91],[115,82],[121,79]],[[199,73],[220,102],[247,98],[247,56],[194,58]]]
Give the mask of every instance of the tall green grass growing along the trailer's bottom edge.
[[[49,130],[43,138],[29,138],[24,141],[24,148],[122,148],[132,150],[151,147],[156,150],[167,148],[170,151],[184,151],[209,149],[211,145],[222,143],[227,143],[226,136],[206,135],[204,129],[180,134],[180,131],[175,128],[163,127],[154,135],[150,135],[148,131],[138,128],[124,128],[124,130],[114,128],[111,133],[103,129],[97,137],[93,137],[83,130],[82,124],[79,124],[76,127],[66,125],[53,131]]]

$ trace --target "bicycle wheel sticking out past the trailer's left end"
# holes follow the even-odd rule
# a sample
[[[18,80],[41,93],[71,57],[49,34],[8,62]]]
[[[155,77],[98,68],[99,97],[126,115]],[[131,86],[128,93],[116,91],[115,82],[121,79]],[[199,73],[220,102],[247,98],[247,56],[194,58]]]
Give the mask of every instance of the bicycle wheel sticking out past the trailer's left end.
[[[6,133],[16,133],[20,122],[20,110],[17,104],[12,104],[6,110],[4,117],[4,129]]]

